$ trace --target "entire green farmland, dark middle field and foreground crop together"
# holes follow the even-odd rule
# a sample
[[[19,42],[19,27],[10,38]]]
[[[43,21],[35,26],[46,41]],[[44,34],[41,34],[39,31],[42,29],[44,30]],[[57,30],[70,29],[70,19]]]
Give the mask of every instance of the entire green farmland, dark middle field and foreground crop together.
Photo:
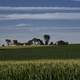
[[[80,45],[0,47],[0,80],[80,80]]]

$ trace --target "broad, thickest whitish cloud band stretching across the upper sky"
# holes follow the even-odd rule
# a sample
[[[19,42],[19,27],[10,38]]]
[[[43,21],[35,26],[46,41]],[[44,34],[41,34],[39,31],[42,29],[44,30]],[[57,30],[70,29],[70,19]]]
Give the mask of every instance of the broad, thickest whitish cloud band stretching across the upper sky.
[[[17,19],[80,19],[80,13],[44,13],[0,15],[0,20]]]

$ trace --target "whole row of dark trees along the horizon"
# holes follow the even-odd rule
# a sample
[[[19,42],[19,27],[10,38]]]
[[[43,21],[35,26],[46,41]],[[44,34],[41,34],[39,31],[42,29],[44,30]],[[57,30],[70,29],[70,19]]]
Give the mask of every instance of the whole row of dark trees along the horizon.
[[[18,40],[10,40],[10,39],[5,39],[5,42],[7,43],[7,45],[68,45],[68,42],[65,42],[63,40],[59,40],[56,43],[50,42],[50,35],[45,34],[43,36],[44,38],[44,42],[41,39],[38,38],[33,38],[25,43],[22,42],[18,42]],[[2,45],[4,46],[4,45]]]

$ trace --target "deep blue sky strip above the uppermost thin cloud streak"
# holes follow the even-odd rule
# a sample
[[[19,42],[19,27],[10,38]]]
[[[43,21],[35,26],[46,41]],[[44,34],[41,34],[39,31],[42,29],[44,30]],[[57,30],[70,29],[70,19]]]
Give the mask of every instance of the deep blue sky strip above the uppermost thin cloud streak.
[[[0,0],[1,6],[80,7],[80,0]]]

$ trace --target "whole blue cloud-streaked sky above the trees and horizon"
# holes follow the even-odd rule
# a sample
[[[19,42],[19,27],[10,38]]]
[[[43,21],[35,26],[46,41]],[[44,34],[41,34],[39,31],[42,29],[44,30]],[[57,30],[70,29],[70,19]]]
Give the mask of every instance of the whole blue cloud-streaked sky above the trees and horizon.
[[[0,0],[0,42],[33,37],[80,43],[80,0]]]

